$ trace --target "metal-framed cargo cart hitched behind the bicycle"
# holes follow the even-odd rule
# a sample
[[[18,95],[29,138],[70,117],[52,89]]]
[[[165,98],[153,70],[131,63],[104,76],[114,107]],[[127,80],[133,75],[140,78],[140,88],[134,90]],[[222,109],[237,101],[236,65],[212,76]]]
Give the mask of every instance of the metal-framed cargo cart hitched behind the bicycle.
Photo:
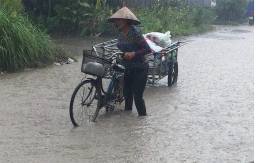
[[[118,51],[116,46],[117,39],[107,42],[99,43],[93,46],[92,51],[96,55],[108,55]],[[160,79],[168,75],[168,86],[172,86],[177,82],[178,77],[178,48],[186,44],[185,42],[174,42],[169,46],[162,48],[157,52],[147,54],[146,57],[149,61],[148,69],[148,84],[156,84]],[[116,61],[117,63],[120,61]],[[111,71],[105,75],[105,78],[109,78]]]

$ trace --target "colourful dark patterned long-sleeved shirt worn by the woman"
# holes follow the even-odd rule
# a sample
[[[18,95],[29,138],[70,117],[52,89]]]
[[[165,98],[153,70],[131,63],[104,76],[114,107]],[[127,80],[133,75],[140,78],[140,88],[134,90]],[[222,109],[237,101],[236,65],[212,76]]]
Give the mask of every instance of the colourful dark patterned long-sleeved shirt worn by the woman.
[[[126,36],[119,35],[117,47],[123,52],[135,52],[135,56],[131,60],[123,59],[125,68],[142,68],[148,65],[146,54],[151,53],[150,46],[144,39],[141,32],[136,31],[134,27]]]

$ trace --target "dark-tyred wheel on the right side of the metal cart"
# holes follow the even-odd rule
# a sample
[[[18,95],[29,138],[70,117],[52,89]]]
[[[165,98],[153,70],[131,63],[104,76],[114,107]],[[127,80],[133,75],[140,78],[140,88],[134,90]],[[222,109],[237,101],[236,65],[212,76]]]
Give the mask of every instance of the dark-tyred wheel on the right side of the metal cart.
[[[177,82],[178,78],[178,61],[171,60],[168,70],[168,86],[172,86]]]

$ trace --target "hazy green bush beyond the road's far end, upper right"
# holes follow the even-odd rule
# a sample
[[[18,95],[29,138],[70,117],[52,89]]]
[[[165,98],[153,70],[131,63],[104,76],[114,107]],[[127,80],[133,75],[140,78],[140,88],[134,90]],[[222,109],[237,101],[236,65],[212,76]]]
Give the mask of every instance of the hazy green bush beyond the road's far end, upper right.
[[[224,23],[240,21],[247,5],[248,0],[218,0],[216,4],[218,21]]]

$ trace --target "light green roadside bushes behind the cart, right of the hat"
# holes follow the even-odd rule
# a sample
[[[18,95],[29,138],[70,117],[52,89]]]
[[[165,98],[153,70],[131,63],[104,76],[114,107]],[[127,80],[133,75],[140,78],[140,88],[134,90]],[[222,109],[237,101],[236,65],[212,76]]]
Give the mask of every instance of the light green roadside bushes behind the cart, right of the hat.
[[[214,11],[210,9],[176,6],[179,7],[155,5],[153,9],[146,7],[134,10],[135,15],[142,22],[143,33],[170,31],[171,35],[189,35],[209,30],[210,27],[205,24],[212,23],[216,18]]]

